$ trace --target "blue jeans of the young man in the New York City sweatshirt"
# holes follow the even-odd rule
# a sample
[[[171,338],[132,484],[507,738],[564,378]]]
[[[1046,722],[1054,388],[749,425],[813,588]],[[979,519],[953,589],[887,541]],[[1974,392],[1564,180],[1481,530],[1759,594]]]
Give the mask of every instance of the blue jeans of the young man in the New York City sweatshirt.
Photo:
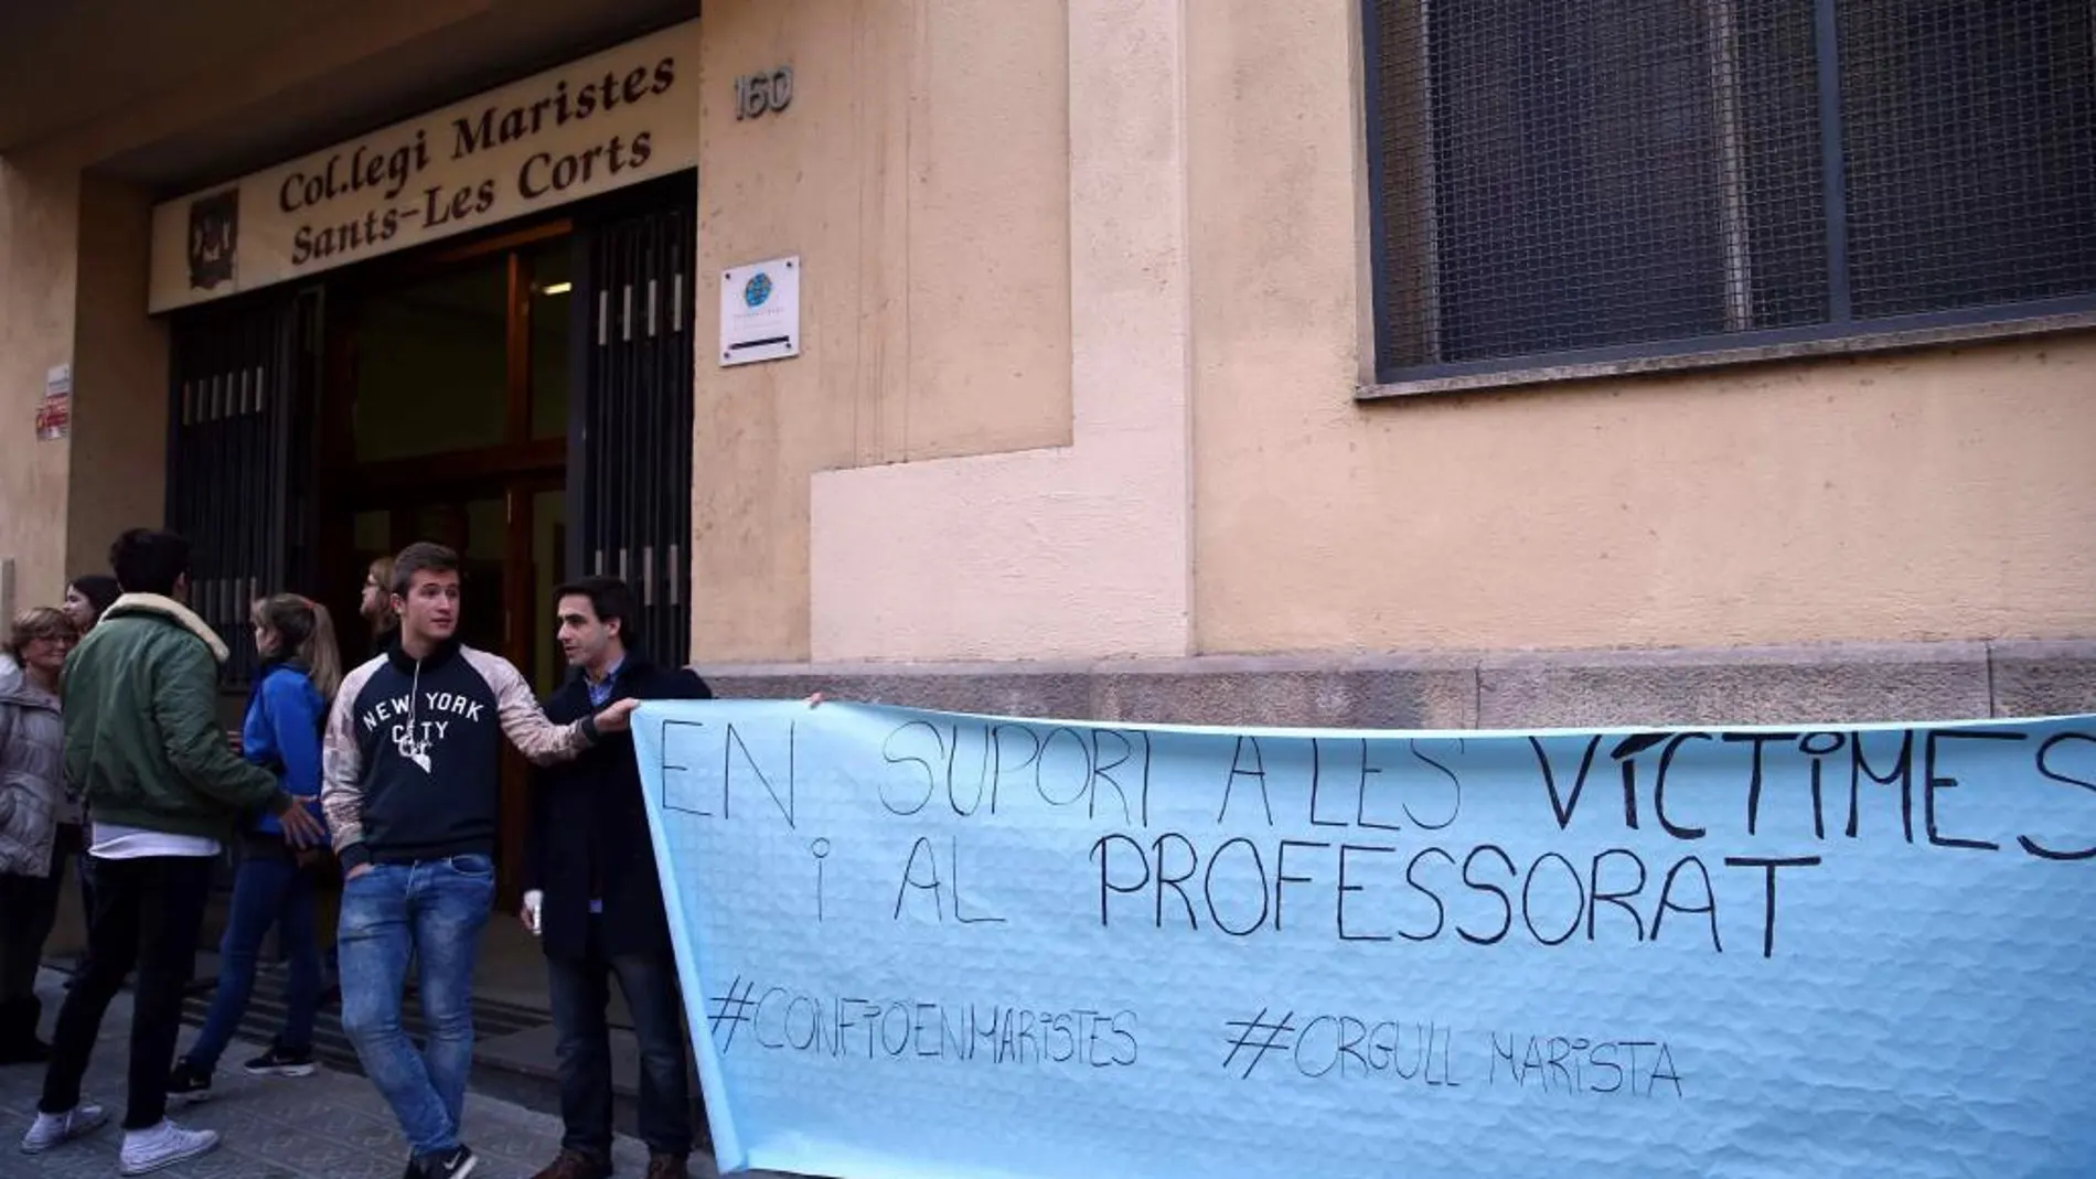
[[[459,1145],[474,1064],[474,959],[493,903],[495,861],[478,854],[371,865],[342,886],[342,1030],[415,1158]],[[411,957],[421,963],[430,1028],[419,1053],[400,1028]]]

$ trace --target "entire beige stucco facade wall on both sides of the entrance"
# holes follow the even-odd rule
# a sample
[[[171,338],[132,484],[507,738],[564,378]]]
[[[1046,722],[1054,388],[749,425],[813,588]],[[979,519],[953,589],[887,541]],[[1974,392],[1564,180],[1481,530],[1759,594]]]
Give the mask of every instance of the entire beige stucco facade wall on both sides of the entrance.
[[[143,193],[82,168],[480,8],[388,0],[0,161],[23,597],[161,486]],[[698,658],[2096,635],[2096,335],[1358,404],[1356,4],[1191,8],[708,4],[698,339],[725,266],[805,291],[799,360],[694,358]]]

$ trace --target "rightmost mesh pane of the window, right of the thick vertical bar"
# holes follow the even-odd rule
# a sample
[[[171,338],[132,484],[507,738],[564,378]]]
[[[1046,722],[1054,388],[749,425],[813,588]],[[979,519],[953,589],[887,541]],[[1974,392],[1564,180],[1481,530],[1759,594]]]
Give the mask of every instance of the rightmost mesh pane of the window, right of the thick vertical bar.
[[[1859,316],[2096,291],[2092,13],[1840,6]]]

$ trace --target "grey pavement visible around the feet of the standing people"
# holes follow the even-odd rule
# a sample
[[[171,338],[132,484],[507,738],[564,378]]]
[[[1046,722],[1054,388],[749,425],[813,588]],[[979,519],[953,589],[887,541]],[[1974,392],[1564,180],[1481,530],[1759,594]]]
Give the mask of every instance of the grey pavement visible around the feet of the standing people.
[[[44,1039],[65,997],[63,974],[44,972]],[[195,1032],[184,1028],[187,1045]],[[407,1143],[392,1112],[363,1076],[321,1068],[302,1078],[256,1078],[239,1062],[258,1045],[235,1043],[218,1066],[212,1099],[172,1110],[184,1127],[216,1129],[224,1141],[212,1154],[157,1175],[168,1179],[398,1179]],[[109,1110],[109,1125],[46,1154],[21,1154],[23,1131],[36,1118],[42,1066],[0,1068],[0,1175],[23,1179],[103,1179],[117,1173],[124,1143],[124,1068],[130,1053],[130,993],[117,995],[88,1068],[86,1099]],[[560,1118],[509,1102],[467,1093],[465,1143],[480,1156],[476,1179],[528,1179],[560,1152]],[[618,1135],[618,1175],[648,1169],[648,1150]],[[694,1179],[717,1179],[711,1158],[692,1158]],[[752,1173],[763,1177],[767,1173]],[[771,1177],[784,1179],[784,1177]]]

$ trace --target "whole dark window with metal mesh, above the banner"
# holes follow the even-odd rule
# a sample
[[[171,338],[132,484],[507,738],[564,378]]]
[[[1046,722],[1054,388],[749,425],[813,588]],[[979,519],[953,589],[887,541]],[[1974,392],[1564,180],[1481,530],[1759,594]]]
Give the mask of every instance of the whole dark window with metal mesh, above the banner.
[[[1383,379],[2096,308],[2092,8],[1371,0]]]

